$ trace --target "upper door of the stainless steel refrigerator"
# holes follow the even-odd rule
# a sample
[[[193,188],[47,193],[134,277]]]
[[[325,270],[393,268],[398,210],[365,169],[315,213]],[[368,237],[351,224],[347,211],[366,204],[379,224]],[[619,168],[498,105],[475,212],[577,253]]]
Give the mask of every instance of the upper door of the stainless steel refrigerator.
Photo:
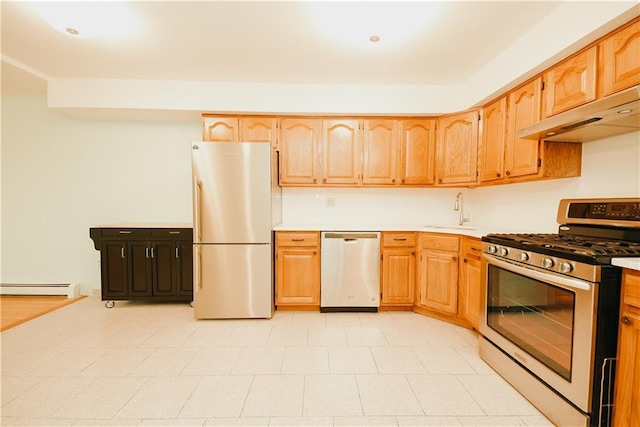
[[[194,242],[270,243],[271,145],[194,142],[191,160]]]

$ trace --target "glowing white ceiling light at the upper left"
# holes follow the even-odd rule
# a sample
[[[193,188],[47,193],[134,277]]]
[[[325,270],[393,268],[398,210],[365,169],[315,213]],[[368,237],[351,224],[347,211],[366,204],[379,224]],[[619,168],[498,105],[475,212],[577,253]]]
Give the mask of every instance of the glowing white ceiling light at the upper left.
[[[128,37],[139,27],[125,1],[43,1],[30,6],[53,28],[76,38]]]

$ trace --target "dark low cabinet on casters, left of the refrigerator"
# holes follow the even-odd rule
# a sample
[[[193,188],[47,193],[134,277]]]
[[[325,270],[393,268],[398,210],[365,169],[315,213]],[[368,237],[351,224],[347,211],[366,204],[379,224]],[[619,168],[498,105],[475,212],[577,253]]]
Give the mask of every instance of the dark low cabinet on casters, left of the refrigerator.
[[[96,227],[102,300],[193,300],[191,228]]]

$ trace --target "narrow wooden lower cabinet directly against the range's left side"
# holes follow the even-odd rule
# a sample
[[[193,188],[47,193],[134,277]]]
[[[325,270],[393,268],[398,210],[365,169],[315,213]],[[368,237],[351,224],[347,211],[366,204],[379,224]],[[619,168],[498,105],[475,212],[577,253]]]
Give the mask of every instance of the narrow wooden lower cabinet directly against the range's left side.
[[[482,245],[480,239],[463,237],[462,262],[460,263],[459,305],[461,317],[478,330],[480,319],[480,276]]]

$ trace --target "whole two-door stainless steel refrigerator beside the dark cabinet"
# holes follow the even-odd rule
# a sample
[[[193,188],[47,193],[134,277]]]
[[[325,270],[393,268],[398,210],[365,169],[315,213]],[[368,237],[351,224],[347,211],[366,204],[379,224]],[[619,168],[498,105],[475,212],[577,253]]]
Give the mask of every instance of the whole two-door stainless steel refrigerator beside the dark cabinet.
[[[273,315],[274,156],[268,142],[191,145],[196,319]]]

